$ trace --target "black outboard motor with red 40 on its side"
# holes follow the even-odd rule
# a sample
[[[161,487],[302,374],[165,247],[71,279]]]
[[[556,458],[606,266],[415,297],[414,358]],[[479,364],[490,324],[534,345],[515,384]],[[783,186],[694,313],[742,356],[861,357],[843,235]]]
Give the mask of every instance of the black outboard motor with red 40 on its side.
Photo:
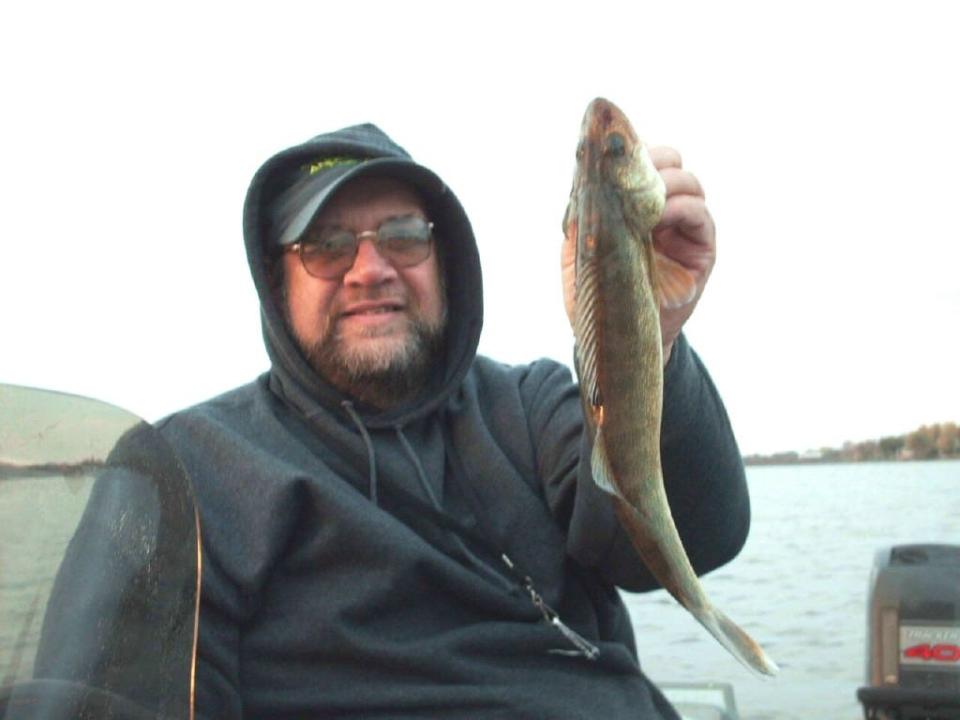
[[[867,720],[960,720],[960,545],[897,545],[870,577]]]

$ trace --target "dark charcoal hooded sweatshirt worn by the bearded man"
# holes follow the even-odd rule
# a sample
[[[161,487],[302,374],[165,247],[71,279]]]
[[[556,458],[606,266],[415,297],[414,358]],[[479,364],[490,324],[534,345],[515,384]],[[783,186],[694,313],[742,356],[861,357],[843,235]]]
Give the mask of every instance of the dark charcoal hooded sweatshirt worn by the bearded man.
[[[363,125],[264,164],[244,233],[270,371],[160,423],[203,529],[199,715],[675,718],[640,672],[616,589],[656,582],[590,479],[569,372],[476,355],[480,264],[449,190],[428,203],[446,350],[419,397],[385,412],[354,403],[291,338],[271,291],[268,209],[297,168],[344,155],[409,157]],[[682,337],[662,437],[677,525],[706,572],[739,551],[749,504],[722,403]],[[587,644],[547,622],[538,598]]]

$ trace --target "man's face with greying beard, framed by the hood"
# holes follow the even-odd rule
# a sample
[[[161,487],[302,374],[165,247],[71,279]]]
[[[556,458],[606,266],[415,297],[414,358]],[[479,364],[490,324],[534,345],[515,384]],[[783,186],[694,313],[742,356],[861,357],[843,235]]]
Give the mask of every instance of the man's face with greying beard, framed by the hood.
[[[407,215],[429,219],[408,186],[360,178],[341,188],[314,223],[359,234]],[[334,280],[307,273],[295,252],[283,262],[287,321],[318,373],[381,408],[422,386],[446,323],[436,248],[422,263],[398,268],[364,238],[353,265]]]

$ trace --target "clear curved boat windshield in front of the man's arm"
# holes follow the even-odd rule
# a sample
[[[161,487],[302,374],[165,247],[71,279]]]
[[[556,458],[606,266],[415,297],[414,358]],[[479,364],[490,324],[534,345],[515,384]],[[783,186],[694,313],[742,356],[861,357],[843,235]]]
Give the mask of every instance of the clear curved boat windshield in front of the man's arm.
[[[153,427],[0,385],[0,720],[192,717],[199,563]]]

